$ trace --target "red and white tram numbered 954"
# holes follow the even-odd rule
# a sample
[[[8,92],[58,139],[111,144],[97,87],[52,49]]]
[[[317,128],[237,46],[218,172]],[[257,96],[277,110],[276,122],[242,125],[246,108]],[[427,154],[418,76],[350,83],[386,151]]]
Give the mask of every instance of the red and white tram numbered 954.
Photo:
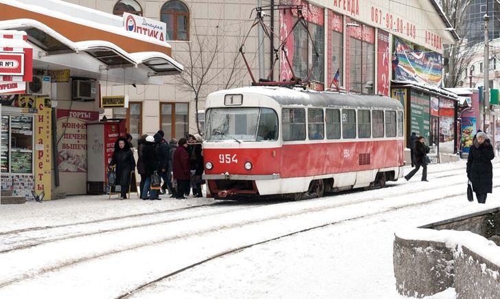
[[[243,87],[205,105],[203,159],[216,199],[385,186],[403,175],[403,107],[385,96]]]

